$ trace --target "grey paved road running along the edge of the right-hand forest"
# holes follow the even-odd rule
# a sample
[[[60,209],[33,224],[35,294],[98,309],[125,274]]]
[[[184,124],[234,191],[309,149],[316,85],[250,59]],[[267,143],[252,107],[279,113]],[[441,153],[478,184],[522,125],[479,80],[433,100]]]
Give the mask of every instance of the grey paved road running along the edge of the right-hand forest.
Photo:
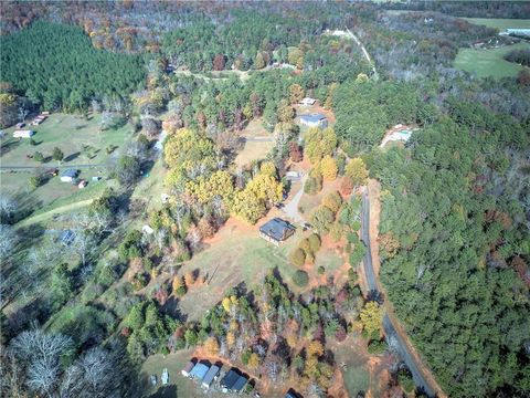
[[[362,261],[364,274],[367,275],[367,284],[369,290],[379,292],[379,281],[375,276],[375,272],[373,271],[372,254],[370,252],[370,201],[368,199],[367,191],[364,191],[362,195],[361,218],[361,240],[367,245],[367,254]],[[416,384],[416,386],[423,387],[423,389],[430,397],[434,397],[435,388],[433,388],[423,376],[422,371],[420,370],[421,365],[415,362],[414,357],[409,352],[406,343],[395,331],[392,320],[386,314],[383,317],[383,331],[389,344],[398,352],[401,359],[411,370],[412,377],[414,378],[414,383]]]

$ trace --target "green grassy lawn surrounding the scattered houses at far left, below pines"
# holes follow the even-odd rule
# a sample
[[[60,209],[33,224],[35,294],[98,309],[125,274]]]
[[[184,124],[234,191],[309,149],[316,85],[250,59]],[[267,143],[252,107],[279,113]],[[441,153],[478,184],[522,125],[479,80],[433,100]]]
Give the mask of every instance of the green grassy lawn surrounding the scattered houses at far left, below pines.
[[[31,121],[31,119],[29,119]],[[33,214],[50,212],[64,206],[71,206],[77,201],[86,201],[99,195],[109,184],[106,181],[106,163],[109,154],[108,146],[124,146],[132,136],[132,129],[125,125],[117,129],[99,130],[100,115],[89,116],[84,119],[80,115],[53,114],[40,126],[28,126],[24,129],[33,129],[36,145],[31,145],[26,138],[12,138],[15,127],[4,129],[6,137],[1,140],[0,165],[2,167],[35,167],[35,169],[7,171],[0,174],[0,188],[10,192],[21,202],[21,209],[33,209]],[[84,150],[83,146],[91,149]],[[34,172],[44,171],[57,166],[57,161],[51,159],[54,147],[61,148],[64,160],[61,166],[100,165],[94,168],[80,168],[80,178],[88,180],[85,189],[78,189],[68,182],[61,182],[59,177],[53,177],[38,189],[29,188],[29,178]],[[26,157],[40,151],[44,155],[45,163],[40,164]],[[92,177],[100,176],[103,180],[92,181]]]

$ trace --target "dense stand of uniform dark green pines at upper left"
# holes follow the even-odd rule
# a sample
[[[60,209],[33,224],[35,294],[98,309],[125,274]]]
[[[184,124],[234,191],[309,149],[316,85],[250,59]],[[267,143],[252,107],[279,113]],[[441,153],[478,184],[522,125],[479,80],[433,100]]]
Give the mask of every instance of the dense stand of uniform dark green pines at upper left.
[[[85,108],[94,96],[124,96],[145,77],[144,61],[93,48],[80,28],[38,21],[0,38],[1,81],[45,109]]]

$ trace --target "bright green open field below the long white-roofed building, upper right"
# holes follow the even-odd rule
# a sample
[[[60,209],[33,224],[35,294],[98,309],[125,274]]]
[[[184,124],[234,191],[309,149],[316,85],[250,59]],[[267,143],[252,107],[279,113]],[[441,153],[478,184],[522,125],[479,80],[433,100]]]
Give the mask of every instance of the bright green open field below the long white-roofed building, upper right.
[[[476,73],[479,77],[513,77],[522,70],[529,67],[508,62],[504,59],[513,50],[530,49],[529,43],[517,43],[499,49],[460,49],[456,55],[456,69]]]

